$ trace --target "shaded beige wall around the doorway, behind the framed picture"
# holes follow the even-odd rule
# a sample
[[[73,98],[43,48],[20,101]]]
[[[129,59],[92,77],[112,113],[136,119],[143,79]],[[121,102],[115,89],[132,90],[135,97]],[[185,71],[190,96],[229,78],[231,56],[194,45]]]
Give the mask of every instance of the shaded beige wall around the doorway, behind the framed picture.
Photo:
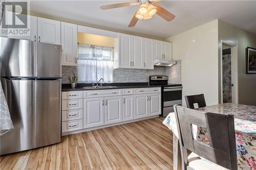
[[[247,46],[256,48],[256,35],[221,20],[219,20],[218,27],[219,59],[221,59],[221,40],[238,44],[238,103],[256,106],[256,74],[246,74],[246,48]],[[219,70],[221,70],[220,66],[219,63]],[[220,80],[221,74],[219,72],[219,94],[221,93]]]

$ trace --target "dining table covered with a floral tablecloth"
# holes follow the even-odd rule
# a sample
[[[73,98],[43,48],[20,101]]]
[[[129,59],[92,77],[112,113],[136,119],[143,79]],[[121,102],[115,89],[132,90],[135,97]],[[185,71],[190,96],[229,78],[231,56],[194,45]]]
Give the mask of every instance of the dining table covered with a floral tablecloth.
[[[256,106],[223,103],[197,108],[197,110],[234,115],[238,169],[256,170]],[[181,169],[179,135],[175,113],[169,113],[163,120],[163,124],[173,131],[174,169]],[[193,131],[196,140],[209,144],[206,128],[195,126]]]

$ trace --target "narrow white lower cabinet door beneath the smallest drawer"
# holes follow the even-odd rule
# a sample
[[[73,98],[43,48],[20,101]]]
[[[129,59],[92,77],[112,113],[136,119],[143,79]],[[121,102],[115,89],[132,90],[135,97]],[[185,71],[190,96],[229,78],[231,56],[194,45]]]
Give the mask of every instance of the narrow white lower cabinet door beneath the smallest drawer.
[[[123,107],[122,107],[123,121],[133,120],[133,95],[123,96]]]

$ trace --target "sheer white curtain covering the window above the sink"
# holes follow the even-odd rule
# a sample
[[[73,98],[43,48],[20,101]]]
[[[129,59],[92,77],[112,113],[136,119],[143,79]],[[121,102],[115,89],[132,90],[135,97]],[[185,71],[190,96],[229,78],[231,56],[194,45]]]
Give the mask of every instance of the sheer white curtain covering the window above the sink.
[[[78,45],[78,81],[94,83],[103,78],[113,81],[113,47]]]

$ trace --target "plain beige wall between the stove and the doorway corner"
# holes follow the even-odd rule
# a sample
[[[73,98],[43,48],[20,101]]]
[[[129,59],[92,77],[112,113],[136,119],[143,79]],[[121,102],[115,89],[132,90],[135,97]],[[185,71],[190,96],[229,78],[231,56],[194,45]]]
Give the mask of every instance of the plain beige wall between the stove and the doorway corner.
[[[184,95],[204,93],[207,105],[218,104],[218,20],[166,39],[173,60],[181,59]]]

